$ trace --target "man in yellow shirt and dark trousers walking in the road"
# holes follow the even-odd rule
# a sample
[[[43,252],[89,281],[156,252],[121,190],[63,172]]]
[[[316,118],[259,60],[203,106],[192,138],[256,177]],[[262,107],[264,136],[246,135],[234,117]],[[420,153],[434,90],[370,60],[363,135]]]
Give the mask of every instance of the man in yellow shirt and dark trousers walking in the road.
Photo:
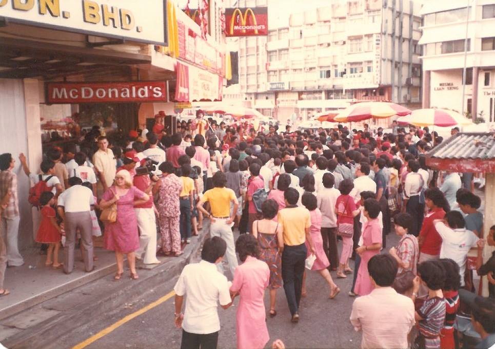
[[[314,254],[309,227],[311,216],[304,207],[298,207],[299,192],[289,188],[284,192],[286,207],[279,211],[278,221],[284,231],[284,241],[279,241],[282,252],[282,279],[289,304],[292,322],[299,321],[299,302],[303,285],[304,263],[306,260],[306,239]]]

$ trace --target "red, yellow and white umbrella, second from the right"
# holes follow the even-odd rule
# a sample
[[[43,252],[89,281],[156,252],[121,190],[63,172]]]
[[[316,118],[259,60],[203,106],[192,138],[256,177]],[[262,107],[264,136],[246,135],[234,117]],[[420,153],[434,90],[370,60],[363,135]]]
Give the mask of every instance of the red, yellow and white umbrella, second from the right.
[[[411,111],[391,102],[361,102],[353,104],[335,116],[337,122],[357,122],[371,118],[382,119],[393,115],[404,116]]]

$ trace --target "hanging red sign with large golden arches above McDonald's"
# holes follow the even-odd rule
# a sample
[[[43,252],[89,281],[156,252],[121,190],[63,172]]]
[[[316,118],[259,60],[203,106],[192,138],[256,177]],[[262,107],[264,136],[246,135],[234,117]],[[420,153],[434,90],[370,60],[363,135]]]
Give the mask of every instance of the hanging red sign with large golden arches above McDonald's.
[[[225,9],[225,36],[268,35],[267,7]]]

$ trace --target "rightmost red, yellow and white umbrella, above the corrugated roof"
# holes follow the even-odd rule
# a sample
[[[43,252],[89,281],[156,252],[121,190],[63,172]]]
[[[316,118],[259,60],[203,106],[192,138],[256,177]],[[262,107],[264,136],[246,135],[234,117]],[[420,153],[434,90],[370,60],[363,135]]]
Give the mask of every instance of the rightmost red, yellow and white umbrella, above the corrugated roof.
[[[418,127],[439,126],[449,127],[456,125],[471,125],[472,121],[464,117],[458,112],[447,109],[418,109],[414,110],[407,116],[402,116],[397,119],[399,122],[404,122]]]

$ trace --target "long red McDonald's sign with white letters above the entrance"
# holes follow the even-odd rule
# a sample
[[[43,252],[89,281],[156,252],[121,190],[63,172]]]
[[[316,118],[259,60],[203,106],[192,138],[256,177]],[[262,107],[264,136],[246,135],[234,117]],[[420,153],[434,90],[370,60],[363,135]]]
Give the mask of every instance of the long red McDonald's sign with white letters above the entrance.
[[[165,81],[47,83],[48,104],[167,101]]]

